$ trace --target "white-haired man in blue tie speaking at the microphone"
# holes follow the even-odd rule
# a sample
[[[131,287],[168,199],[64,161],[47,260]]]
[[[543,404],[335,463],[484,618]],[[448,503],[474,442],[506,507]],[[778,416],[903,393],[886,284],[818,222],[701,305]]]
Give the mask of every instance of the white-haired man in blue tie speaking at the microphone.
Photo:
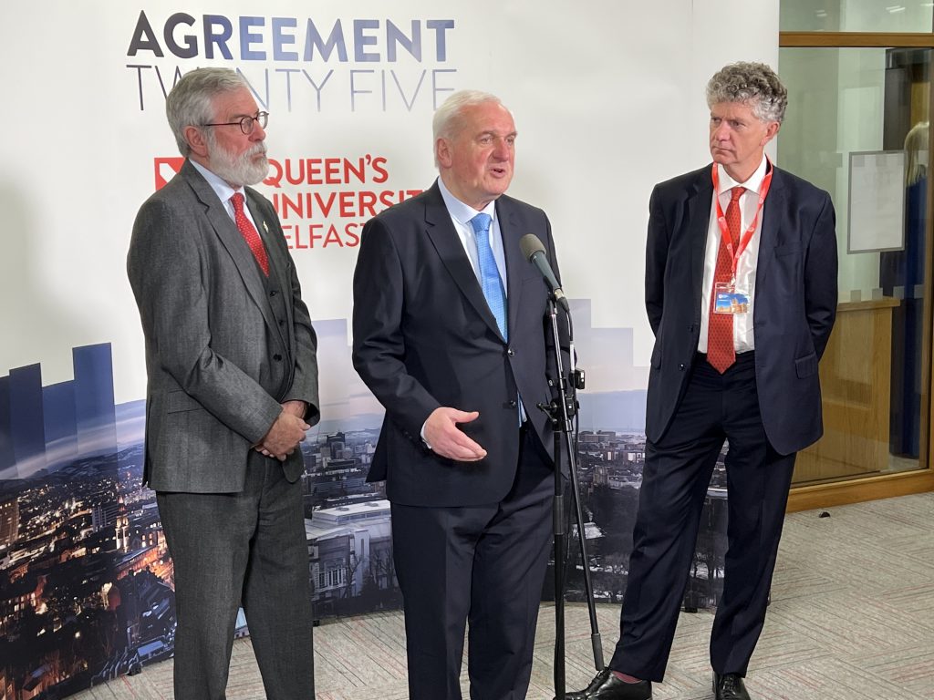
[[[386,479],[403,592],[409,696],[524,698],[551,541],[553,433],[542,276],[545,212],[504,194],[516,126],[461,91],[434,116],[439,177],[367,222],[354,273],[353,360],[386,408],[370,480]]]

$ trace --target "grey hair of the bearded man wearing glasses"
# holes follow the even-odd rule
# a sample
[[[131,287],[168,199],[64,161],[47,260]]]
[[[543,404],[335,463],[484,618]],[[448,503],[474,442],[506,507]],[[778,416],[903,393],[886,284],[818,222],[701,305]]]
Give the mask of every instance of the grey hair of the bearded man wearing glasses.
[[[195,68],[176,83],[165,99],[165,116],[183,156],[191,153],[185,128],[212,121],[218,95],[248,87],[244,77],[230,68]],[[210,141],[213,134],[206,130],[205,137]]]

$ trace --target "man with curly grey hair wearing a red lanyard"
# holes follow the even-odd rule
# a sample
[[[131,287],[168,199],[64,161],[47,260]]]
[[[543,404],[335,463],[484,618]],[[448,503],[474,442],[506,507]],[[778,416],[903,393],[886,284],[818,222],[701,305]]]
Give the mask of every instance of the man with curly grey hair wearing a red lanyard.
[[[646,700],[663,679],[725,441],[729,551],[710,656],[716,700],[748,700],[795,454],[823,431],[833,204],[765,156],[787,104],[769,66],[726,66],[707,104],[713,164],[659,184],[649,203],[645,308],[656,343],[629,582],[613,659],[573,700]]]

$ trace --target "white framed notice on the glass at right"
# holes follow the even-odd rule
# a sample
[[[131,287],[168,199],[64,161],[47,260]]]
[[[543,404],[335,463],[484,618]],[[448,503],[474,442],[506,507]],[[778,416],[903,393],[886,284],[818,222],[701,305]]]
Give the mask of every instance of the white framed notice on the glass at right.
[[[905,246],[905,153],[850,153],[846,252],[901,250]]]

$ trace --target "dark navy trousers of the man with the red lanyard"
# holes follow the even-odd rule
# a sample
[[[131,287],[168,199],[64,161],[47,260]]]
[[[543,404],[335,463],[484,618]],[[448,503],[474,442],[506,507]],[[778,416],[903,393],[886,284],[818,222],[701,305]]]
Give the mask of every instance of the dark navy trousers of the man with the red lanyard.
[[[685,594],[704,497],[717,455],[726,459],[729,550],[711,634],[717,673],[745,675],[765,622],[795,455],[779,455],[762,427],[755,353],[723,375],[696,358],[661,440],[645,446],[639,512],[620,638],[610,666],[660,681]]]

